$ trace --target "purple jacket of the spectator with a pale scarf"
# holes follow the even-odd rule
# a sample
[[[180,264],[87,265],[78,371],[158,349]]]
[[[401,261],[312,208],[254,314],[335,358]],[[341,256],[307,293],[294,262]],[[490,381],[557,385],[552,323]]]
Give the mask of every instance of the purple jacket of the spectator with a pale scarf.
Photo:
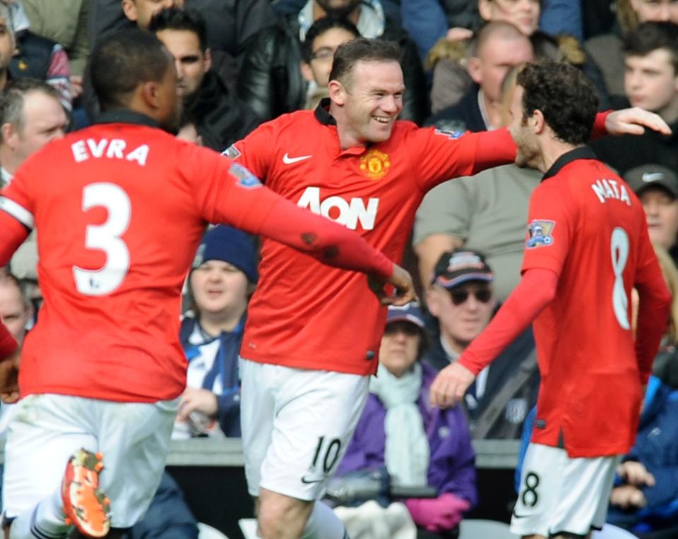
[[[475,453],[466,418],[460,406],[446,410],[431,408],[429,388],[435,375],[433,368],[422,363],[422,391],[417,399],[417,406],[424,418],[424,429],[431,449],[428,483],[429,486],[436,487],[440,494],[452,492],[470,502],[473,507],[477,502]],[[377,396],[370,393],[353,439],[339,464],[338,475],[383,466],[385,420],[386,408]]]

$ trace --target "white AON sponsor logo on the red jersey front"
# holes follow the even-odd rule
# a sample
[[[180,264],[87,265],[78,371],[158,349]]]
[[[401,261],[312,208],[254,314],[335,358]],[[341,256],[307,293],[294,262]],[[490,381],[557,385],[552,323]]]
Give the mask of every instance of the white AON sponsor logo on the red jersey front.
[[[356,230],[360,224],[363,230],[372,230],[376,210],[379,207],[379,198],[368,198],[367,205],[362,198],[345,200],[332,196],[320,200],[320,188],[307,187],[299,198],[297,206],[307,207],[311,212],[328,217],[349,229]]]

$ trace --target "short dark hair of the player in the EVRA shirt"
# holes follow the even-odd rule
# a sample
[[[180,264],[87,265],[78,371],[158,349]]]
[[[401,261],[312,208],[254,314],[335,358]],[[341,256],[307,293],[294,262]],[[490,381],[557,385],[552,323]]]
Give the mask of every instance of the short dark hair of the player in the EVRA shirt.
[[[88,63],[102,111],[126,107],[138,85],[160,82],[172,62],[160,40],[147,30],[132,28],[102,38]]]

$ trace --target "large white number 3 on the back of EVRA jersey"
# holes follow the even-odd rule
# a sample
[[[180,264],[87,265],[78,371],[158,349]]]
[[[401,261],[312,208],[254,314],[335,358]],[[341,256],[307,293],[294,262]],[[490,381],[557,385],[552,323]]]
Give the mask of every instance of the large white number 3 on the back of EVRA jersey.
[[[89,224],[85,230],[85,248],[106,253],[101,269],[73,266],[76,289],[87,296],[102,296],[117,289],[129,271],[129,250],[122,236],[129,226],[131,203],[127,193],[113,183],[90,183],[83,188],[83,212],[102,206],[108,212],[103,224]]]

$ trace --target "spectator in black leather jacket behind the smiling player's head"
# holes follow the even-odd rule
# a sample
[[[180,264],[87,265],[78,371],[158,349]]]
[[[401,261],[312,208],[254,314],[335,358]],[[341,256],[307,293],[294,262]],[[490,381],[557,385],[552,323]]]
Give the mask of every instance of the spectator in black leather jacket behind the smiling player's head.
[[[239,73],[240,97],[264,120],[303,109],[307,84],[299,73],[302,42],[311,25],[326,16],[350,21],[363,37],[382,37],[400,44],[406,88],[400,118],[421,125],[429,107],[417,48],[403,30],[388,25],[379,0],[308,0],[301,11],[284,16],[280,25],[259,32]]]

